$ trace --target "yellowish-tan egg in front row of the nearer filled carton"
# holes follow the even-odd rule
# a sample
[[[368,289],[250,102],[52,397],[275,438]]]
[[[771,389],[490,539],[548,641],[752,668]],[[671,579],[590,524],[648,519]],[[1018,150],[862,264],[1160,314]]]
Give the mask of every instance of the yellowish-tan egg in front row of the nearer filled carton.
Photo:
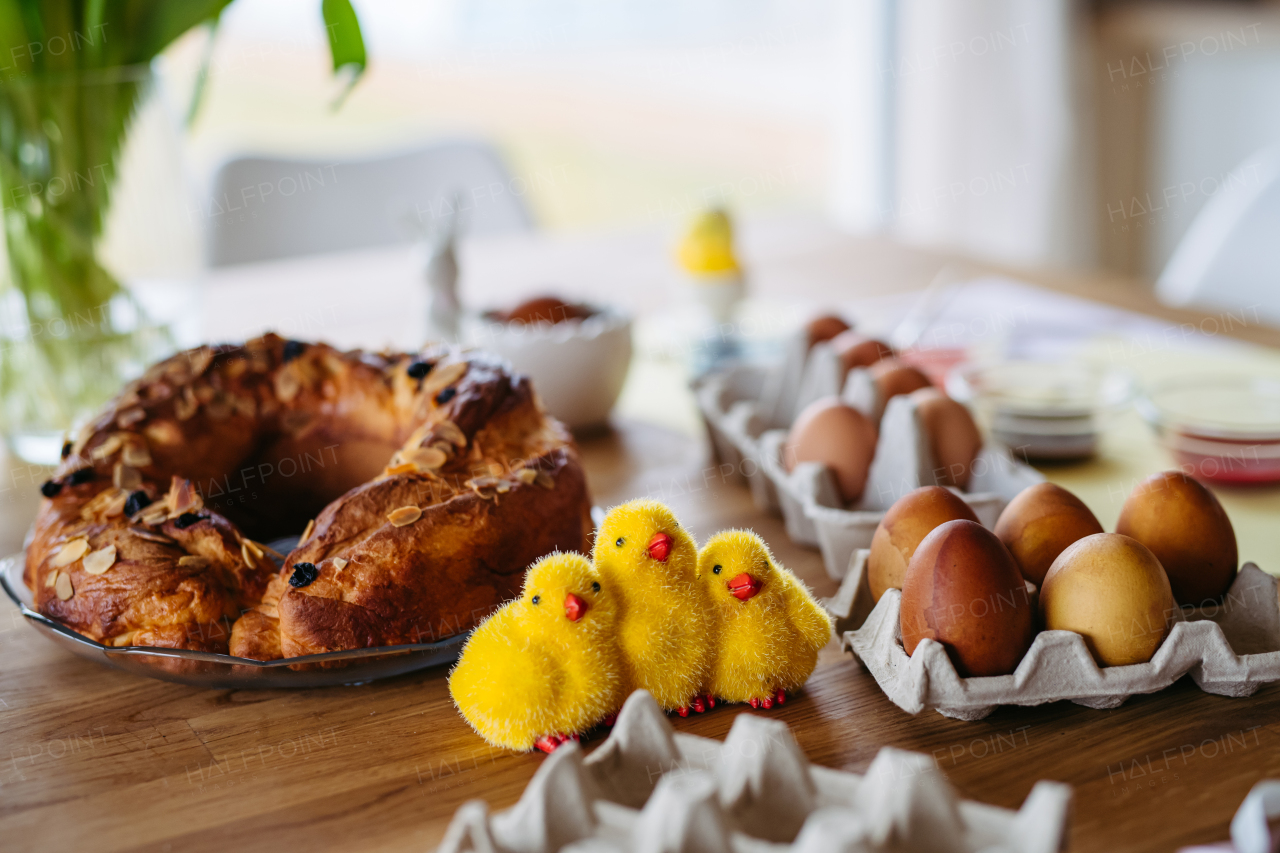
[[[1119,533],[1094,533],[1057,556],[1039,596],[1046,630],[1075,631],[1100,666],[1146,663],[1178,610],[1156,555]]]

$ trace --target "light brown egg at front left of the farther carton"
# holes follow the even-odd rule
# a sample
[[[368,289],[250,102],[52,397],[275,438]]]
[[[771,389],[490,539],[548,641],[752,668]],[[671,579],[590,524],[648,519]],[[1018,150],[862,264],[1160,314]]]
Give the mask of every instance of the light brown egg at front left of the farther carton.
[[[787,470],[824,464],[836,475],[840,497],[852,503],[863,496],[876,456],[876,424],[837,397],[815,400],[796,418],[782,456]]]

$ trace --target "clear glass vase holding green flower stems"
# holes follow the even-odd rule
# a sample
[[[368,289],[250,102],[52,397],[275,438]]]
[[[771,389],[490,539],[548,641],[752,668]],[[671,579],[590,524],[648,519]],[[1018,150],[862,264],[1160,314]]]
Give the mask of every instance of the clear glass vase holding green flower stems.
[[[147,67],[0,81],[0,429],[28,462],[56,464],[79,421],[175,346],[168,319],[125,286],[110,257],[113,245],[116,256],[137,256],[119,250],[131,241],[172,251],[156,223],[172,223],[174,205],[163,196],[180,193],[182,179],[165,186],[148,170],[180,160],[155,154],[177,146],[177,133],[168,143],[154,133],[131,138],[155,124],[140,117],[157,88]],[[128,186],[129,172],[141,190]],[[113,215],[122,199],[133,211],[123,222]]]

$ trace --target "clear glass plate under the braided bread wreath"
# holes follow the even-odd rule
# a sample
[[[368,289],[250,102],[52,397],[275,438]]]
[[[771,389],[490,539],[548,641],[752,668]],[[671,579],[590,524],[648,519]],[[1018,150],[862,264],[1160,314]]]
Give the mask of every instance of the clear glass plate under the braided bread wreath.
[[[285,547],[279,549],[288,553],[297,540],[273,543],[273,547],[280,544]],[[0,558],[0,585],[41,634],[78,657],[134,675],[192,686],[271,689],[364,684],[452,663],[467,639],[467,634],[460,634],[435,643],[356,648],[279,661],[252,661],[230,654],[150,646],[102,646],[35,610],[31,590],[22,580],[24,564],[26,555],[22,553]]]

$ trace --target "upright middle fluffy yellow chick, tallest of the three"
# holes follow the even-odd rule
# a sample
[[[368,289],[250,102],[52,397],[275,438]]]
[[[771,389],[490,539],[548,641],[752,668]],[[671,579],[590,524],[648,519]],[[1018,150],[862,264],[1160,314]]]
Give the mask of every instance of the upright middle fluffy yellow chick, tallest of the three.
[[[698,583],[698,543],[658,501],[609,510],[595,534],[595,569],[618,593],[618,646],[632,686],[689,716],[704,711],[699,688],[712,647],[705,589]]]

